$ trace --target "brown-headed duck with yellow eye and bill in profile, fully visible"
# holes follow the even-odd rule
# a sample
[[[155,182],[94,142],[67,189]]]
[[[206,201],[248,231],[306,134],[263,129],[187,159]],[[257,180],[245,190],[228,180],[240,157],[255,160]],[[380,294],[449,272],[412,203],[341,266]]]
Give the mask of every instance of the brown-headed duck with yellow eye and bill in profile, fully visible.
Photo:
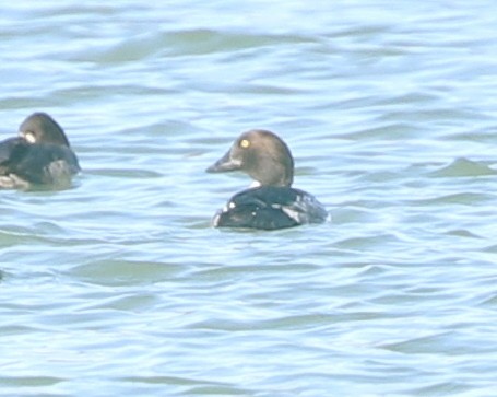
[[[212,220],[214,227],[279,230],[323,223],[328,211],[316,197],[292,187],[294,159],[274,132],[253,129],[241,133],[229,150],[205,170],[241,171],[252,185],[233,196]]]

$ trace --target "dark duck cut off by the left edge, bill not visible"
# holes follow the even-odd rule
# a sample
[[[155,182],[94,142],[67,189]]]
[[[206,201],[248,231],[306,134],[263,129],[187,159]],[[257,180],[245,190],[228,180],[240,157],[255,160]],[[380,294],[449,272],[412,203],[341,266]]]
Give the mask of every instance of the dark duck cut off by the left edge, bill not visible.
[[[62,127],[46,113],[29,115],[17,137],[0,142],[0,188],[67,188],[80,171]]]

